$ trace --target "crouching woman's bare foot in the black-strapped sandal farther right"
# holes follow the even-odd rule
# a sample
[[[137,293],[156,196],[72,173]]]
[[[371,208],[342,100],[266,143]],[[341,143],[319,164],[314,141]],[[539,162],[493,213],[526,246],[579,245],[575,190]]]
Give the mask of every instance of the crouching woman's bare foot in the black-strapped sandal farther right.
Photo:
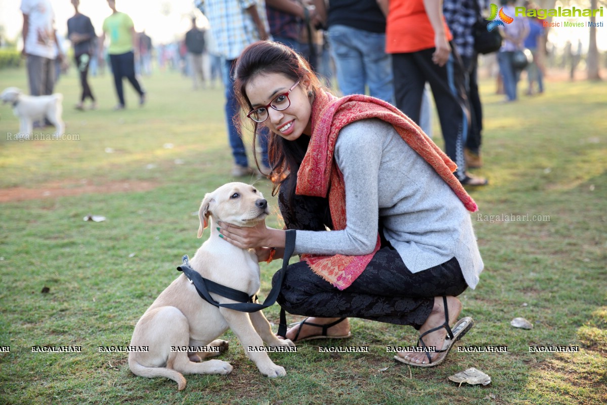
[[[461,312],[461,302],[459,299],[448,296],[447,297],[447,309],[449,310],[449,325],[453,325],[457,320],[459,313]],[[443,304],[443,297],[435,297],[434,298],[434,307],[432,308],[432,312],[430,312],[430,316],[426,319],[426,322],[419,328],[419,333],[423,334],[428,330],[443,325],[445,323],[445,308]],[[446,328],[441,328],[436,330],[435,332],[430,332],[428,335],[424,336],[424,344],[426,347],[435,347],[436,350],[442,350],[445,344],[445,338],[447,337]],[[427,364],[428,356],[427,352],[399,352],[398,355],[404,358],[407,361],[415,362],[417,364]],[[428,353],[432,361],[434,361],[439,353]]]

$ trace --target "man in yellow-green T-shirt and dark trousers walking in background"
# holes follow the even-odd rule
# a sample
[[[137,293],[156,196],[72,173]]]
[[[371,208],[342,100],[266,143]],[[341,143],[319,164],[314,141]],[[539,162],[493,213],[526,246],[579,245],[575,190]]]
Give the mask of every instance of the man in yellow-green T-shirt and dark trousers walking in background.
[[[139,105],[143,106],[146,101],[146,94],[137,77],[135,77],[135,59],[137,58],[135,52],[138,51],[138,46],[133,20],[125,13],[116,10],[115,0],[107,0],[107,5],[112,9],[112,15],[103,21],[103,34],[101,34],[100,42],[103,44],[106,35],[109,36],[110,44],[107,47],[107,53],[110,56],[114,86],[118,95],[118,104],[114,107],[114,110],[123,110],[126,107],[122,86],[125,77],[139,95]],[[100,46],[100,49],[102,48],[103,46]]]

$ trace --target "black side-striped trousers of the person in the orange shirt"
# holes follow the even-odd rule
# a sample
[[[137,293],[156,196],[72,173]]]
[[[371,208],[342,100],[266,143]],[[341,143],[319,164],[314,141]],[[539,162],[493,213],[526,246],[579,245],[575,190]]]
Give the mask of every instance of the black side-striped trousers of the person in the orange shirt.
[[[436,103],[445,153],[455,162],[459,180],[464,179],[464,145],[470,123],[469,106],[464,87],[463,66],[455,46],[445,66],[432,61],[432,49],[411,53],[393,53],[392,69],[396,107],[419,124],[421,100],[426,82],[430,84]]]

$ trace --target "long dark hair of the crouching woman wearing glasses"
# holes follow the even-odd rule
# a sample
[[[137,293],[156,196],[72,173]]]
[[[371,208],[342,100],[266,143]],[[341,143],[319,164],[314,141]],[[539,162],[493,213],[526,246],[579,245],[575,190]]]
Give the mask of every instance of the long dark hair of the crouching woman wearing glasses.
[[[293,81],[307,78],[310,80],[312,91],[316,94],[322,89],[320,80],[314,74],[310,64],[297,52],[288,46],[273,41],[257,41],[246,47],[236,61],[234,69],[234,92],[243,111],[251,111],[251,101],[246,95],[245,87],[257,75],[279,73]],[[243,134],[243,128],[247,124],[253,124],[253,151],[255,151],[255,140],[258,124],[249,120],[246,114],[240,114],[238,128]],[[268,159],[270,160],[271,172],[268,177],[273,183],[272,195],[275,196],[279,188],[285,192],[287,202],[292,207],[291,201],[295,193],[297,170],[304,159],[308,149],[310,138],[301,136],[295,141],[288,141],[280,135],[270,132],[268,140]],[[254,153],[257,168],[259,162],[257,154]]]

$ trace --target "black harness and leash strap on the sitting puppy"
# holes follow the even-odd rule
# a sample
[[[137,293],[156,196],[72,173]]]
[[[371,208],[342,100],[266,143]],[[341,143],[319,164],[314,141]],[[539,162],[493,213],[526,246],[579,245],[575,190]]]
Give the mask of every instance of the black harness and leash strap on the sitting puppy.
[[[276,302],[276,299],[278,298],[278,294],[280,292],[280,286],[282,285],[282,280],[285,277],[285,272],[287,271],[287,266],[289,265],[289,259],[291,258],[294,249],[295,231],[288,230],[285,233],[285,254],[282,259],[282,268],[279,270],[279,279],[277,279],[276,284],[274,284],[274,286],[270,290],[270,293],[268,293],[268,296],[266,297],[263,304],[255,302],[257,301],[256,294],[249,296],[249,294],[243,291],[235,290],[234,288],[226,287],[225,285],[217,284],[214,281],[205,279],[205,277],[201,276],[200,273],[195,271],[189,265],[189,257],[187,254],[182,257],[182,263],[179,267],[177,267],[177,270],[183,271],[183,274],[188,277],[188,280],[196,288],[196,292],[198,293],[200,298],[204,299],[209,304],[214,305],[215,307],[228,308],[234,311],[249,313],[257,312],[264,308],[268,308],[271,305],[274,305],[274,302]],[[215,301],[209,293],[217,294],[219,296],[231,299],[232,301],[237,301],[237,303],[220,304],[219,302]],[[285,310],[283,308],[280,308],[280,324],[278,328],[278,335],[285,336],[286,333],[287,315],[285,313]]]

